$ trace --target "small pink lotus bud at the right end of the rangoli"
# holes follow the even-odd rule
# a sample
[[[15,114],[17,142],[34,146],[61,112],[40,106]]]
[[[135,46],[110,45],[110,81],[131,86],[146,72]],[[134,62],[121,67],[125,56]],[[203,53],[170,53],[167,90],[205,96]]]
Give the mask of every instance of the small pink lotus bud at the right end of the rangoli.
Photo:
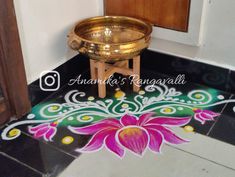
[[[194,110],[194,118],[201,122],[201,124],[205,124],[206,121],[214,121],[214,117],[219,116],[220,114],[215,113],[213,111],[209,110],[201,110],[201,109],[195,109]]]

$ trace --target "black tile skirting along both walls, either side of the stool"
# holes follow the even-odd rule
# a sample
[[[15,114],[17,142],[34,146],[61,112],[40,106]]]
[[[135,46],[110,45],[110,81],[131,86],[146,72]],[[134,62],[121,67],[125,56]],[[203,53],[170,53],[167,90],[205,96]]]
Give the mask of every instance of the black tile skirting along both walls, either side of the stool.
[[[141,67],[168,76],[185,74],[186,80],[228,93],[235,93],[235,71],[214,65],[192,61],[189,59],[163,54],[151,50],[144,50],[141,54]],[[61,76],[60,85],[63,86],[71,78],[89,71],[89,58],[78,54],[54,71]],[[42,91],[39,79],[28,85],[32,106],[40,103],[54,92]]]

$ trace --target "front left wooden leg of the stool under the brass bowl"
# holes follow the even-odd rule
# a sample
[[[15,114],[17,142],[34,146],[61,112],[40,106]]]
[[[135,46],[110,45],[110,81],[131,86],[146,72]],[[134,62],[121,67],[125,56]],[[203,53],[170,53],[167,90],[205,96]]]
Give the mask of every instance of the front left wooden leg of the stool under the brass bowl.
[[[104,98],[106,97],[106,85],[105,85],[105,63],[98,62],[98,92],[99,97]]]

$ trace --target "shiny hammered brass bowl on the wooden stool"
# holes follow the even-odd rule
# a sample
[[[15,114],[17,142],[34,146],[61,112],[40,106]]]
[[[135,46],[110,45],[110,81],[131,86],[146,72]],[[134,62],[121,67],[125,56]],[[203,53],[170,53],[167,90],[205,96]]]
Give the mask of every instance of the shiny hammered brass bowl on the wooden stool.
[[[152,26],[124,16],[100,16],[78,22],[68,45],[91,59],[113,62],[131,59],[150,43]]]

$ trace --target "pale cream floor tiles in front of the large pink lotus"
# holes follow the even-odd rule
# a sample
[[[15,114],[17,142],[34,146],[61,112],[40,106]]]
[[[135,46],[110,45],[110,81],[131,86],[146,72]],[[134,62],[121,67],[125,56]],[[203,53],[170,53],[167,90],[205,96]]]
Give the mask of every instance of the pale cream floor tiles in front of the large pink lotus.
[[[167,145],[162,154],[147,151],[142,158],[128,152],[124,159],[119,160],[104,149],[83,154],[59,177],[234,177],[234,147],[200,134],[196,138],[194,136],[195,134],[187,135],[188,138],[191,137],[193,144],[190,147],[181,145],[175,148]],[[202,147],[198,148],[198,144]],[[217,149],[206,148],[218,144],[220,147]],[[220,153],[221,148],[228,149],[228,153]],[[226,163],[233,169],[221,163]]]

